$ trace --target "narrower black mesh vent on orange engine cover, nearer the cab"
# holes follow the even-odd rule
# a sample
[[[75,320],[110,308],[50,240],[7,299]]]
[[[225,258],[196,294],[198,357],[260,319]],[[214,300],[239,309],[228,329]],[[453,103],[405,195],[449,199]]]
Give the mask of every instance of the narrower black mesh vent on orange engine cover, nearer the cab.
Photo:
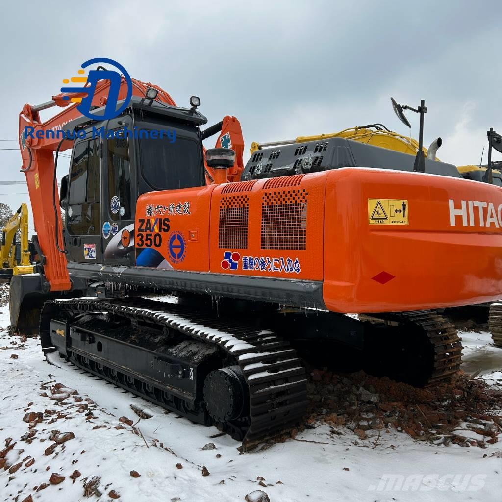
[[[238,184],[245,183],[253,182]],[[248,214],[249,197],[247,195],[225,195],[221,197],[218,226],[218,246],[220,249],[247,248]]]

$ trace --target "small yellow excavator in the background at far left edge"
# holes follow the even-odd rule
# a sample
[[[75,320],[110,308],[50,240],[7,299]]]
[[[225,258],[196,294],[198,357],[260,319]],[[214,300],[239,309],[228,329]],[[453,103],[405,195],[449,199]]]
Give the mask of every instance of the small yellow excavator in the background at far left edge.
[[[21,234],[19,243],[16,242],[18,231]],[[13,275],[33,274],[31,255],[28,241],[28,206],[23,203],[2,229],[0,283],[10,282]]]

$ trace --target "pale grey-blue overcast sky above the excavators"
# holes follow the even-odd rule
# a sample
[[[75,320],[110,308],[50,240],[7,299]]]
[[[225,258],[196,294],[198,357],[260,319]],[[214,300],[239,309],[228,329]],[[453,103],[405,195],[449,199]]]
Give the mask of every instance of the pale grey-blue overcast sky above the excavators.
[[[180,106],[200,96],[208,124],[235,115],[244,161],[252,141],[371,122],[409,135],[390,96],[412,106],[426,100],[424,143],[441,136],[438,157],[446,162],[479,163],[487,129],[502,132],[497,2],[30,4],[2,4],[1,140],[19,136],[25,103],[48,101],[94,57],[115,59]],[[408,118],[418,138],[418,115]],[[23,181],[17,143],[0,148],[16,149],[0,152],[0,182]],[[58,178],[68,172],[63,160]],[[0,202],[17,209],[24,201],[26,186],[0,184]]]

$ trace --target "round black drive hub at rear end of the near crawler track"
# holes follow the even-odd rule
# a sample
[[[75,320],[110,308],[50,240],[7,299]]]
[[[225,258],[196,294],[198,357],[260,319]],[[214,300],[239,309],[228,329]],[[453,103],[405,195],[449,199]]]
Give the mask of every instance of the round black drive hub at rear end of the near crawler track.
[[[239,366],[215,369],[204,381],[204,402],[209,416],[218,424],[249,413],[249,393]]]

